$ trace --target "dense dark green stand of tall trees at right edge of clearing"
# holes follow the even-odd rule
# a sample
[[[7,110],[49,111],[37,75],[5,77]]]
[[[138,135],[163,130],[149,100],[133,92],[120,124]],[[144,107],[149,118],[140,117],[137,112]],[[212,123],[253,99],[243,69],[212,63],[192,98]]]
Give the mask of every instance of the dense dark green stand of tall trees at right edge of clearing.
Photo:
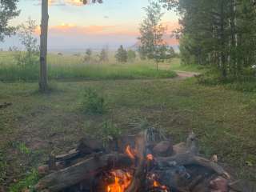
[[[159,0],[180,16],[182,62],[214,66],[239,78],[256,63],[255,0]]]

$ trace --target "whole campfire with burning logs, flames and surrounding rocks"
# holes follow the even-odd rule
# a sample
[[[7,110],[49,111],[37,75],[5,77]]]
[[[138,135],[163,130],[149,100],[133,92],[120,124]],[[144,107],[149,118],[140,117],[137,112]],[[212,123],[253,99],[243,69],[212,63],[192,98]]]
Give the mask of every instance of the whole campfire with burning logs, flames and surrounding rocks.
[[[50,155],[38,171],[38,191],[227,192],[230,175],[198,154],[195,135],[173,145],[153,128],[114,139],[103,147],[83,138],[75,150]]]

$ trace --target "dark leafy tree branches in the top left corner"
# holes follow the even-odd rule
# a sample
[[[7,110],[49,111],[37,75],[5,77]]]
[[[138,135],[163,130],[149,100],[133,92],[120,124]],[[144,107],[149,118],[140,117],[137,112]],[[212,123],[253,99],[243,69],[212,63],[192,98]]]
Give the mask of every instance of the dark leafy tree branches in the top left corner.
[[[8,26],[10,19],[17,17],[20,13],[17,10],[18,0],[0,0],[0,42],[5,36],[14,34],[16,30],[13,26]]]

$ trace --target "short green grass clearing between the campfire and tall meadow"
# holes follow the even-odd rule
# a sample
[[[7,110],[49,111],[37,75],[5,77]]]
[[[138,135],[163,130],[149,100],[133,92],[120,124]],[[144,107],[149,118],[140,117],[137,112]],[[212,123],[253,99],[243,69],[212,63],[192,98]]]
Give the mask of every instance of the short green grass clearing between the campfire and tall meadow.
[[[0,174],[0,185],[26,181],[24,173],[48,154],[74,148],[86,134],[102,138],[105,132],[138,131],[130,125],[142,119],[166,130],[174,142],[184,141],[194,130],[202,154],[208,158],[218,154],[236,177],[256,181],[254,93],[202,86],[194,78],[55,82],[50,94],[38,94],[37,87],[37,83],[0,83],[0,103],[13,103],[0,110],[0,170],[5,173]],[[88,87],[104,97],[107,113],[81,111]]]

